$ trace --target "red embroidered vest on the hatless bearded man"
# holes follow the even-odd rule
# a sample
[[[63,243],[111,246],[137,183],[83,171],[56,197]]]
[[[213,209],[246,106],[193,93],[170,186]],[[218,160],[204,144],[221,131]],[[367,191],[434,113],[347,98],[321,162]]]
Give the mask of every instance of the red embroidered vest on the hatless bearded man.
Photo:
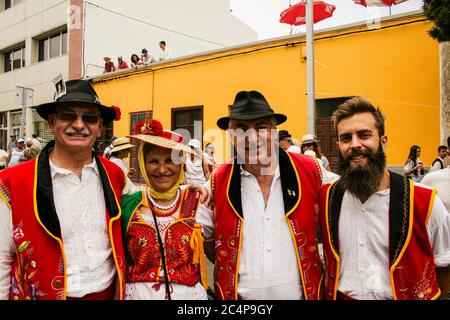
[[[412,180],[392,172],[390,176],[389,273],[394,299],[437,299],[440,289],[427,233],[436,191],[414,186]],[[340,274],[338,225],[344,192],[337,185],[325,185],[320,193],[325,297],[328,300],[336,299]]]

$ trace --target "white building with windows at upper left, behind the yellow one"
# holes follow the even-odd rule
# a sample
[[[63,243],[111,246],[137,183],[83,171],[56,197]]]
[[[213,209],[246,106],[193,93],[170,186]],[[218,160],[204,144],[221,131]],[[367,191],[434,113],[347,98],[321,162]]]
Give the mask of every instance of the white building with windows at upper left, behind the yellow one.
[[[161,40],[172,58],[256,40],[229,9],[230,0],[0,0],[0,148],[11,134],[51,138],[29,107],[53,99],[58,74],[98,75],[104,56],[130,64],[143,48],[157,57]]]

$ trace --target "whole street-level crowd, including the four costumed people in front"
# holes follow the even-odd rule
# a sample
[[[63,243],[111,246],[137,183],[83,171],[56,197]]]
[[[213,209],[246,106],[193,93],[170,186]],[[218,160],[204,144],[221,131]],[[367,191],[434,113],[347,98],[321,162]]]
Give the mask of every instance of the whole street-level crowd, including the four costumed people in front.
[[[338,176],[314,135],[292,148],[277,131],[287,117],[258,91],[238,92],[218,119],[237,153],[221,165],[212,144],[185,144],[156,119],[99,157],[95,140],[117,109],[85,80],[37,112],[55,140],[0,172],[0,299],[447,296],[450,168],[429,174],[433,187],[388,170],[383,112],[363,97],[333,114]],[[138,189],[124,163],[133,148]]]

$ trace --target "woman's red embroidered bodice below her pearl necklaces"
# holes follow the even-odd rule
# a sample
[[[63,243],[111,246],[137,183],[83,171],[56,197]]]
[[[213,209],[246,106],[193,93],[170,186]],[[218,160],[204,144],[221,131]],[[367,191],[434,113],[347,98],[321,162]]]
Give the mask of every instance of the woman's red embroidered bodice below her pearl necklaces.
[[[165,229],[164,248],[168,279],[171,283],[194,286],[200,281],[198,265],[193,264],[190,241],[196,224],[195,216],[200,201],[198,192],[183,191],[178,219]],[[145,199],[145,192],[142,192]],[[142,200],[138,207],[146,203]],[[157,219],[160,218],[157,216]],[[161,282],[162,257],[153,223],[134,210],[127,229],[127,282]]]

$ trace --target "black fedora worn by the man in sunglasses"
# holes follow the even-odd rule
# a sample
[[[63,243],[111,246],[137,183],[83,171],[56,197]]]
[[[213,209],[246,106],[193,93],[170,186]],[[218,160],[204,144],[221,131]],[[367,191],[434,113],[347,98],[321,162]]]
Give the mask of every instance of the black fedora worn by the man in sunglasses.
[[[88,80],[70,80],[65,83],[65,92],[55,101],[44,103],[36,107],[37,113],[48,120],[48,115],[53,113],[57,106],[77,102],[83,105],[92,105],[100,111],[103,123],[109,123],[120,118],[120,110],[117,107],[108,107],[100,103],[100,100]]]

